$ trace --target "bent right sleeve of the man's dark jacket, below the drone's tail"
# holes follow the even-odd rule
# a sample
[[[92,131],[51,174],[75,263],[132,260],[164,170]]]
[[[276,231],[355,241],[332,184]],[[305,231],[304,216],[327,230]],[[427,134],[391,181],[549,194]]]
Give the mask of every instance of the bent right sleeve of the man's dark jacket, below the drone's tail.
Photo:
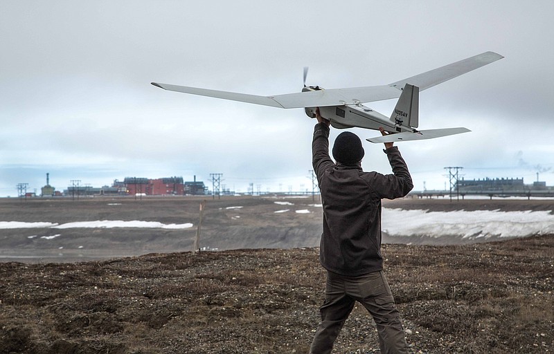
[[[381,175],[378,178],[379,186],[375,188],[380,198],[402,198],[413,188],[410,172],[404,158],[400,155],[398,147],[384,150],[388,162],[391,164],[393,174]]]

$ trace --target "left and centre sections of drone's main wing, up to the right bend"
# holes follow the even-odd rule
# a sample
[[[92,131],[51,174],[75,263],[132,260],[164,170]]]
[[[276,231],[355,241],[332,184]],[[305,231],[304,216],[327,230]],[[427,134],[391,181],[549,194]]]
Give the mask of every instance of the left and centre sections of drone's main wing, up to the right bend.
[[[343,104],[374,102],[400,97],[400,91],[388,85],[332,88],[329,90],[321,89],[319,91],[287,93],[285,95],[274,96],[249,95],[246,93],[208,90],[206,88],[159,84],[157,82],[152,82],[152,85],[168,91],[191,93],[193,95],[216,97],[224,100],[261,104],[263,106],[278,108],[341,106]]]

